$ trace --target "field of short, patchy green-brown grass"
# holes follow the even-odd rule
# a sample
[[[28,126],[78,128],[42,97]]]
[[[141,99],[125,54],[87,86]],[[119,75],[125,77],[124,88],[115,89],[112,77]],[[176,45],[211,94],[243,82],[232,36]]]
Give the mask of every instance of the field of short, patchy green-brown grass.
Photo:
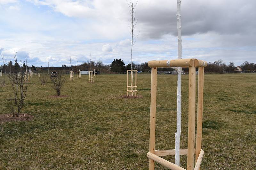
[[[63,98],[49,97],[55,95],[49,80],[43,86],[31,78],[21,112],[34,119],[0,124],[0,169],[148,169],[151,75],[137,79],[143,98],[124,99],[124,74],[67,80]],[[157,80],[156,149],[174,149],[177,76]],[[10,113],[9,89],[8,82],[0,87],[1,115]],[[202,170],[256,169],[255,103],[256,74],[205,74]],[[187,122],[188,75],[182,75],[180,148],[187,148]],[[182,167],[186,162],[181,156]],[[156,169],[166,168],[156,163]]]

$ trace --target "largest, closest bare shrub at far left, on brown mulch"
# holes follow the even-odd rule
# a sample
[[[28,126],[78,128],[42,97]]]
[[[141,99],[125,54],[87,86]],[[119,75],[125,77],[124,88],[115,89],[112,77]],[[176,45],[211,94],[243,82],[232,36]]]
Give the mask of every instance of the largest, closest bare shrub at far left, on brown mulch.
[[[14,55],[14,61],[17,62],[17,50],[13,53]],[[20,63],[21,64],[21,63]],[[17,66],[17,65],[16,65]],[[16,71],[15,71],[16,70]],[[7,76],[11,82],[11,91],[10,91],[10,104],[14,104],[17,107],[18,113],[16,111],[13,111],[13,105],[10,105],[12,116],[18,117],[20,114],[20,110],[23,108],[27,89],[28,89],[28,83],[25,80],[25,74],[26,70],[20,67],[16,67],[12,73],[8,73]],[[12,99],[12,97],[14,99]],[[12,102],[14,100],[14,102]]]

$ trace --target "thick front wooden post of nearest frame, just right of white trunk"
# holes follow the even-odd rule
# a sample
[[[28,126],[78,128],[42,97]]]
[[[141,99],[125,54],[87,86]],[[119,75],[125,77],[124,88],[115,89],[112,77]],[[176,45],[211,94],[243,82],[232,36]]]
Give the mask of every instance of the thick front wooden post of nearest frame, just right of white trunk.
[[[187,170],[194,169],[195,118],[196,118],[196,67],[188,67],[188,161]]]

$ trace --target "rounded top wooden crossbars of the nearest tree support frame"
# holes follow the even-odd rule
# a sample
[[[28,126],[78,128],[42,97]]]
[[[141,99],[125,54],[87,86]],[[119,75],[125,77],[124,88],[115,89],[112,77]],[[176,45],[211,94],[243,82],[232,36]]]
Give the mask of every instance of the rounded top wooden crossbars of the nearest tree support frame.
[[[191,67],[195,61],[195,67],[206,67],[207,62],[198,59],[178,59],[178,60],[154,60],[148,61],[148,67]]]

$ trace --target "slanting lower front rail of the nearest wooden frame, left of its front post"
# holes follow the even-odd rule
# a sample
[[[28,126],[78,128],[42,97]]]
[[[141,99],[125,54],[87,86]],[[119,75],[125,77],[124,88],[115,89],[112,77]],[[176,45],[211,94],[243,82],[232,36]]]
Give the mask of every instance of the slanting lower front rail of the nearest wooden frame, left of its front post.
[[[169,169],[172,169],[172,170],[186,170],[178,165],[175,165],[173,164],[172,162],[169,162],[168,160],[165,160],[163,158],[160,158],[159,156],[156,156],[155,154],[151,153],[151,152],[148,152],[147,153],[147,157],[149,158],[149,160],[154,160],[156,161],[157,163],[169,168]]]

